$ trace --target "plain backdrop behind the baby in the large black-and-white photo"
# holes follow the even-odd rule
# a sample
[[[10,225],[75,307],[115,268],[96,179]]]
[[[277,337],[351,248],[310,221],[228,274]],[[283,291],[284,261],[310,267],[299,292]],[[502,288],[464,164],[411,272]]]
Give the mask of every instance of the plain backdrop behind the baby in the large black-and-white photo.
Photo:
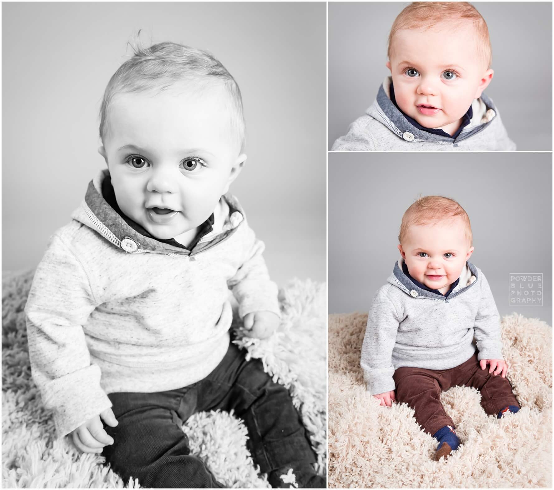
[[[212,51],[237,80],[248,161],[230,190],[280,286],[325,281],[325,2],[3,3],[3,270],[36,266],[105,168],[98,110],[139,29]]]

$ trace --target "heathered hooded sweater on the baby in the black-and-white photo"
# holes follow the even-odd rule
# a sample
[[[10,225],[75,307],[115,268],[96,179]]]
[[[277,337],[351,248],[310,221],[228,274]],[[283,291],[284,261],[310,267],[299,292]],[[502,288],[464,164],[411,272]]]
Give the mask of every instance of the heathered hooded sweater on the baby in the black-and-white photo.
[[[232,195],[188,251],[127,225],[102,198],[106,175],[50,238],[25,307],[33,379],[58,436],[109,408],[107,393],[167,391],[209,374],[229,347],[229,290],[240,317],[279,314],[264,245]]]

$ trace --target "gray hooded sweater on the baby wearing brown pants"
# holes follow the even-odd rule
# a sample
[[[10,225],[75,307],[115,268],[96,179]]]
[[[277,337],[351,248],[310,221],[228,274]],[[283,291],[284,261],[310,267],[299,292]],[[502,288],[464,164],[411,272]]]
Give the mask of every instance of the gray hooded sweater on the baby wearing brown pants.
[[[466,262],[447,298],[423,290],[394,265],[373,296],[363,338],[361,367],[367,390],[395,388],[394,370],[454,368],[479,350],[478,359],[502,359],[500,315],[483,272]]]

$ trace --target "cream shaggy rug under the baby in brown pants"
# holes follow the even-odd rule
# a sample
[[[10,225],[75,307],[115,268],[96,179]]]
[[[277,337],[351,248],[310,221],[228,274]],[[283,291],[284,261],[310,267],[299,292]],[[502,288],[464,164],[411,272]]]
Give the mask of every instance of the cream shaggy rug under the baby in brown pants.
[[[552,328],[502,319],[507,378],[521,410],[488,416],[474,388],[440,395],[461,446],[434,461],[437,441],[408,405],[379,406],[366,392],[360,350],[367,313],[329,317],[330,488],[552,488]]]

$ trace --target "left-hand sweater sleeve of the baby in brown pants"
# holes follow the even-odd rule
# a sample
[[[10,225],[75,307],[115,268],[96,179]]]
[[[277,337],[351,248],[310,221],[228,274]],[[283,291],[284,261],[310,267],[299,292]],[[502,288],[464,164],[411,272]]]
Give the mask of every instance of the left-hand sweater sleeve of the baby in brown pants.
[[[367,391],[378,395],[394,390],[392,350],[400,324],[391,299],[379,289],[373,296],[363,337],[361,367]]]

